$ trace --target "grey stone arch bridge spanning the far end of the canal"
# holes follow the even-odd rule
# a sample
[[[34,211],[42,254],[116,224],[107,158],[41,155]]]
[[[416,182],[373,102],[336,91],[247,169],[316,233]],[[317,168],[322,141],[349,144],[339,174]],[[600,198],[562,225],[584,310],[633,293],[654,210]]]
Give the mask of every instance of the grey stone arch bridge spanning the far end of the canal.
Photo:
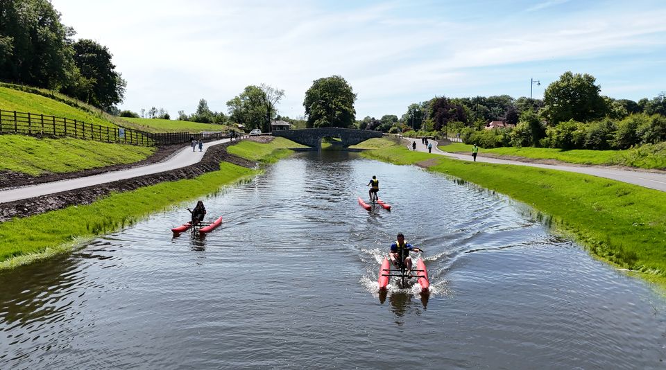
[[[321,139],[332,137],[340,139],[339,145],[347,148],[362,141],[372,139],[373,137],[382,137],[382,132],[355,130],[352,128],[306,128],[303,130],[277,130],[273,131],[273,136],[282,136],[296,143],[312,148],[321,148]]]

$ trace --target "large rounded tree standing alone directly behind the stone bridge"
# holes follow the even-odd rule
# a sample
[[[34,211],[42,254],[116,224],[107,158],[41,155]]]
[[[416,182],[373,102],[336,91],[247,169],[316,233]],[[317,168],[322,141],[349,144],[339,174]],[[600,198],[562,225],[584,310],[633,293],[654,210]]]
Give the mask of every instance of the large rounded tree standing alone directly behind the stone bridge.
[[[341,76],[320,78],[305,91],[308,127],[350,127],[354,124],[356,94]]]

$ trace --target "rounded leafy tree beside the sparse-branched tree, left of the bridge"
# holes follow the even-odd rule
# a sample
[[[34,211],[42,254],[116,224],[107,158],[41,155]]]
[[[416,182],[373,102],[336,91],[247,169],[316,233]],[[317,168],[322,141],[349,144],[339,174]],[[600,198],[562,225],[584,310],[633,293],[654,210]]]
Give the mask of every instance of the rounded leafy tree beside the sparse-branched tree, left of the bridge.
[[[227,102],[229,116],[232,121],[245,125],[250,130],[261,128],[267,116],[265,103],[266,96],[262,88],[249,85],[241,94]]]

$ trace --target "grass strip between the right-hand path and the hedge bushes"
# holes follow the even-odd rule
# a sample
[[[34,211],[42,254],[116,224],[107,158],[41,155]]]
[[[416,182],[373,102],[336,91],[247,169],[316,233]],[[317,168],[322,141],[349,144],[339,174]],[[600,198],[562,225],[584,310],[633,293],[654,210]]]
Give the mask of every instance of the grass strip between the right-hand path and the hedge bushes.
[[[451,143],[438,146],[444,152],[472,152],[472,146]],[[596,164],[601,166],[628,166],[666,170],[666,142],[647,144],[628,150],[561,150],[552,148],[493,148],[481,149],[483,153],[510,155],[531,159],[555,159],[572,164]]]

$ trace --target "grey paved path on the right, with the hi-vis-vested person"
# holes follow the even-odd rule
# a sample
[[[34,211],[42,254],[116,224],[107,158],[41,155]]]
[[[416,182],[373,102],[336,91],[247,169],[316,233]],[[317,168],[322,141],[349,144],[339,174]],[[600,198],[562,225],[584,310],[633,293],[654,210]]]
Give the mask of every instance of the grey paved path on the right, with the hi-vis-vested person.
[[[427,152],[427,146],[423,145],[420,139],[410,139],[409,145],[407,148],[411,150],[411,143],[416,141],[416,151],[418,152]],[[461,159],[463,161],[472,161],[472,153],[469,155],[459,154],[459,153],[449,153],[443,152],[437,148],[437,142],[434,140],[430,141],[432,144],[432,153],[438,155],[445,155],[447,157],[452,157],[456,159]],[[483,148],[479,148],[479,155],[477,155],[477,162],[485,163],[494,163],[494,164],[515,164],[517,166],[529,166],[529,167],[540,167],[540,168],[549,168],[551,170],[563,170],[568,172],[575,173],[584,173],[586,175],[592,175],[597,177],[605,177],[606,179],[613,179],[621,182],[626,182],[629,184],[643,186],[645,188],[652,188],[659,191],[666,191],[666,173],[651,173],[651,172],[642,172],[642,171],[632,171],[632,170],[618,170],[616,168],[608,168],[604,166],[563,166],[557,164],[537,164],[530,162],[520,162],[520,161],[509,161],[506,159],[496,159],[483,157]]]

